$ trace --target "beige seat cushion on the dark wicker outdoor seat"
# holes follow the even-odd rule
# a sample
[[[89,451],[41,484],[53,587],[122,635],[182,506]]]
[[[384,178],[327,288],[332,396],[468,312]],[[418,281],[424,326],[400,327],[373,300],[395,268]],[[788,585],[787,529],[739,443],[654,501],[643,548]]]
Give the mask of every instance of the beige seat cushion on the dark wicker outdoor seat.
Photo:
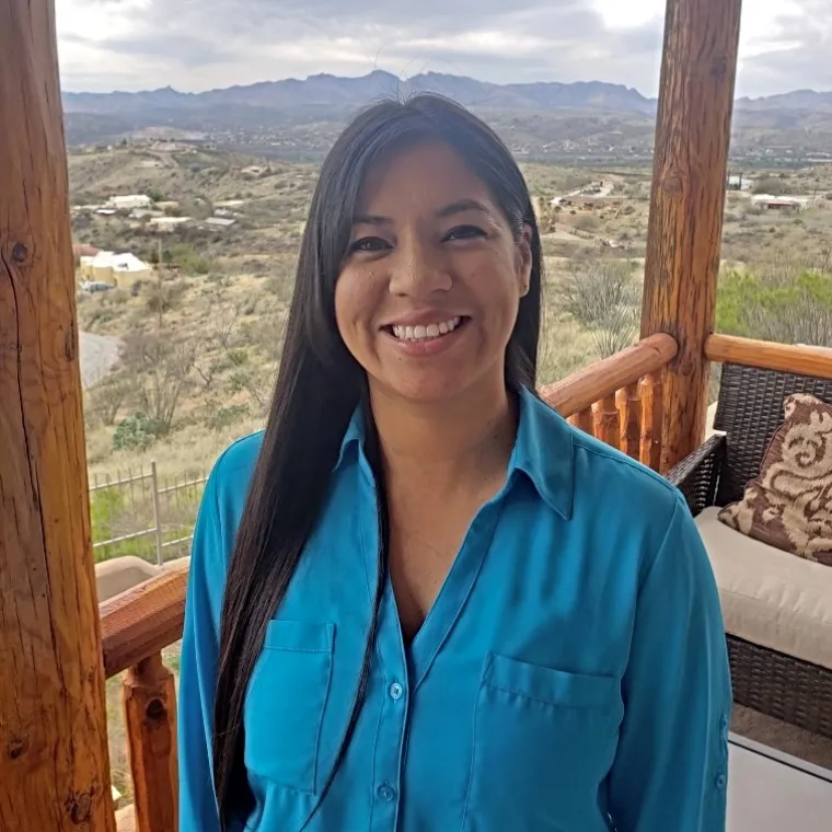
[[[832,569],[697,518],[728,633],[832,670]]]

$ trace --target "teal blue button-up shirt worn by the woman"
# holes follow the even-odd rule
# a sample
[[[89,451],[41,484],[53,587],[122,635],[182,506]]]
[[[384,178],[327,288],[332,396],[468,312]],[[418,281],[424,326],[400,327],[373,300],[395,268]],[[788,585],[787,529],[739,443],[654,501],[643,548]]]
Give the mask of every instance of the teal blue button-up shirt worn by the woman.
[[[244,715],[254,832],[721,832],[731,692],[714,577],[677,490],[530,393],[502,490],[405,647],[392,588],[358,684],[379,548],[357,414],[269,623]],[[217,462],[194,540],[181,832],[216,832],[226,573],[261,435]]]

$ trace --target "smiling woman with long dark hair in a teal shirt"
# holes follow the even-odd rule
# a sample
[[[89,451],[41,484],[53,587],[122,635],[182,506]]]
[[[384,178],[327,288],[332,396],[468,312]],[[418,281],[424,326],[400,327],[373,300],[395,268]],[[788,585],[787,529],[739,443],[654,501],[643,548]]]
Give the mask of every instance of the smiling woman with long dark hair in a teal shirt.
[[[264,434],[197,524],[182,832],[717,832],[731,696],[680,495],[534,395],[541,250],[464,109],[321,171]]]

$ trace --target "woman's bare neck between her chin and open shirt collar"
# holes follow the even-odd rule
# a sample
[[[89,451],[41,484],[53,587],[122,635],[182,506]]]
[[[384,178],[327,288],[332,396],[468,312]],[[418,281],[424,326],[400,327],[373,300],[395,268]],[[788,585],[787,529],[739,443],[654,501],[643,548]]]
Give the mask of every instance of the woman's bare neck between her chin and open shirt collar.
[[[499,384],[420,404],[371,392],[389,485],[450,493],[502,477],[517,435],[517,404]]]

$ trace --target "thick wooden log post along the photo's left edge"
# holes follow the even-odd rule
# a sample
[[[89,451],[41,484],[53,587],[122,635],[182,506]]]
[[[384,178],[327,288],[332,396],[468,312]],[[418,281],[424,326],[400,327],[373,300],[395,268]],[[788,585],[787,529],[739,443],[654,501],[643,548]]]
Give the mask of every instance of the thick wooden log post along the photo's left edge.
[[[53,0],[0,0],[0,829],[112,832]]]

